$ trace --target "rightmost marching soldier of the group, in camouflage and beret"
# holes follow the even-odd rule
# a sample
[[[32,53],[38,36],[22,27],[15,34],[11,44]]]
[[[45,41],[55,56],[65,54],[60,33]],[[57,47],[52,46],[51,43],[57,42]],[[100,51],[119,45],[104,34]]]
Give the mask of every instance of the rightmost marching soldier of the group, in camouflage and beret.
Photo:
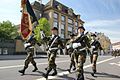
[[[96,73],[96,62],[97,62],[97,58],[98,58],[98,52],[99,50],[102,50],[101,44],[100,42],[97,40],[97,36],[96,34],[92,34],[92,42],[91,42],[91,47],[92,47],[92,51],[91,51],[91,64],[92,64],[92,76],[94,76],[94,74]]]

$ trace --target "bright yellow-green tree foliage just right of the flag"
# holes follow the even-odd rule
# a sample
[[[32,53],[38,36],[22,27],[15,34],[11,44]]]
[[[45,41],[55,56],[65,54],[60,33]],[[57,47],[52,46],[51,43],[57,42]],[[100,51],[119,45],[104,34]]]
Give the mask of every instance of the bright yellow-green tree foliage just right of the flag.
[[[41,35],[40,31],[44,31],[46,36],[50,36],[50,24],[46,18],[41,18],[39,21],[39,24],[34,29],[35,38],[38,42],[41,42]]]

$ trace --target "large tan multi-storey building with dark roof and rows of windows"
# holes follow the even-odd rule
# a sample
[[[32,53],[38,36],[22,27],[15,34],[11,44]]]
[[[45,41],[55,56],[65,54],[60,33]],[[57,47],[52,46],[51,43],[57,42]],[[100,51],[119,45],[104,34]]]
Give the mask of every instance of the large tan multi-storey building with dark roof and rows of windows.
[[[59,36],[62,38],[68,38],[71,33],[76,33],[78,26],[84,24],[80,15],[76,15],[72,8],[56,0],[50,0],[45,5],[35,1],[32,6],[38,19],[41,17],[47,18],[51,28],[57,27],[59,29]]]

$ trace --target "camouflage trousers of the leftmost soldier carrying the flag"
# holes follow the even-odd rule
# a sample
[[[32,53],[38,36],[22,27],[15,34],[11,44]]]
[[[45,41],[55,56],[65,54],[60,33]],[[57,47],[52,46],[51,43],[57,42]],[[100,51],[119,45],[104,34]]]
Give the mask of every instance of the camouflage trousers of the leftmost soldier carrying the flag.
[[[25,68],[28,67],[29,63],[31,62],[32,65],[36,65],[36,62],[34,60],[34,48],[28,48],[27,49],[27,57],[25,59]]]

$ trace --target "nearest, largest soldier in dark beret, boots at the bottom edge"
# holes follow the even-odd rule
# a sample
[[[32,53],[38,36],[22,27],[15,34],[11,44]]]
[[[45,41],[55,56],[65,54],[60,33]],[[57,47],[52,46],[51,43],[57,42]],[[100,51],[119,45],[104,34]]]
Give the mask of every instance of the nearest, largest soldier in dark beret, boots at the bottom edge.
[[[86,48],[90,48],[88,37],[84,34],[85,28],[78,27],[78,35],[73,42],[73,48],[76,49],[77,54],[77,80],[84,80],[83,65],[86,60]]]

